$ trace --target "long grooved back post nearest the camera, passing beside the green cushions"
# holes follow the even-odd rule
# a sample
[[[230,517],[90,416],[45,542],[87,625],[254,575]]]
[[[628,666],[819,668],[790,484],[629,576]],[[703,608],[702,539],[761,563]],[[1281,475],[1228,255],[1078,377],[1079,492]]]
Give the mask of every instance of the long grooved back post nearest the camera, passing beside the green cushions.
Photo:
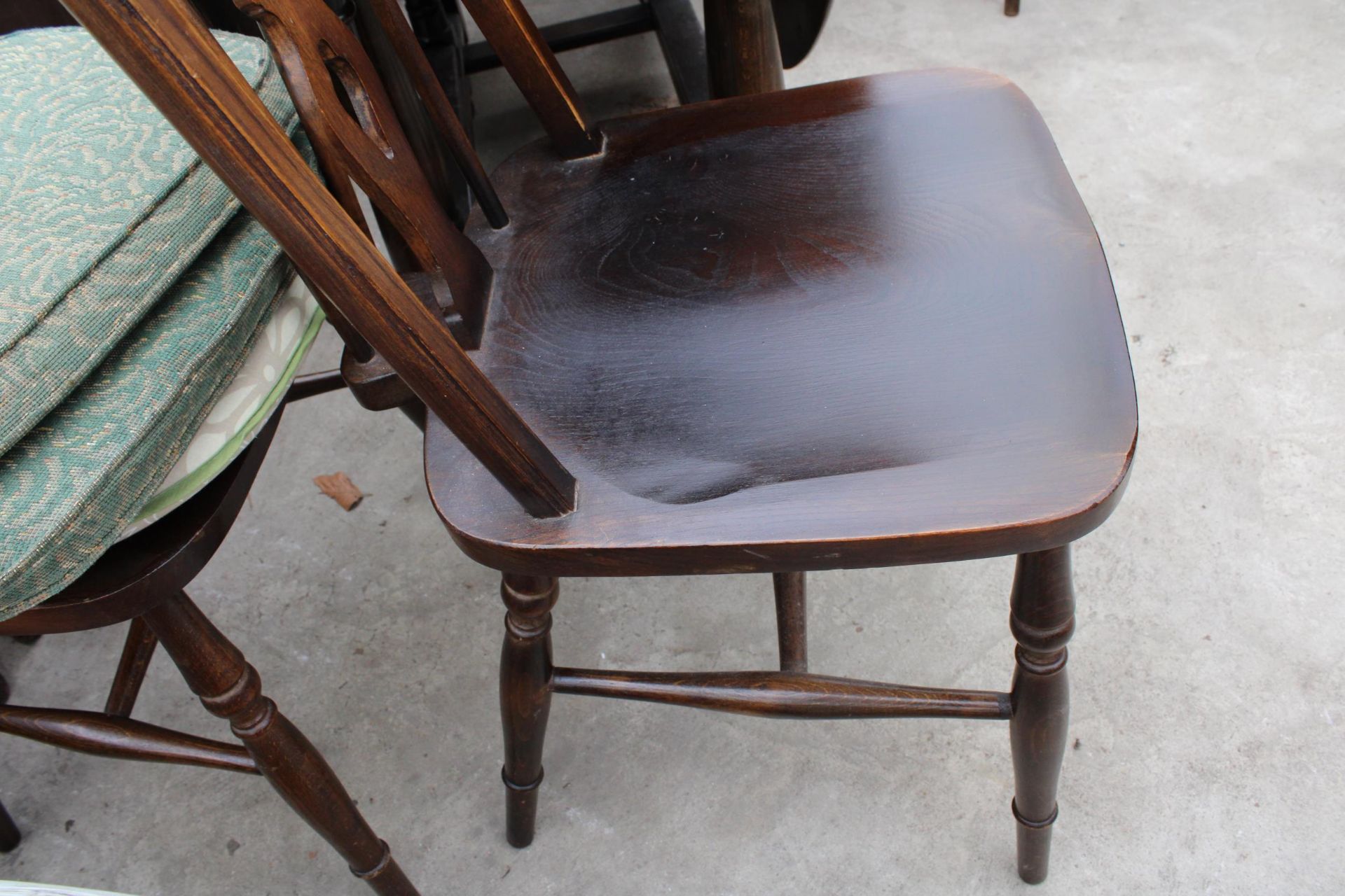
[[[188,0],[63,3],[313,286],[527,512],[561,516],[574,508],[570,473],[317,180]],[[336,58],[342,46],[335,38]],[[335,98],[330,85],[327,91]],[[378,124],[395,153],[393,122]],[[354,137],[350,142],[360,145]]]

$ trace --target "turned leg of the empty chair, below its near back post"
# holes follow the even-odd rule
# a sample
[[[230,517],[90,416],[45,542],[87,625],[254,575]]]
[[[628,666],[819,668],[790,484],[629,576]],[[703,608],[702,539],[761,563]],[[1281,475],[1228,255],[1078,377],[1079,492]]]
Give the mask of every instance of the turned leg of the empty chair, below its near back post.
[[[542,742],[551,708],[551,607],[558,583],[546,576],[506,574],[500,596],[500,719],[504,724],[504,832],[512,846],[533,842],[537,789],[542,785]]]

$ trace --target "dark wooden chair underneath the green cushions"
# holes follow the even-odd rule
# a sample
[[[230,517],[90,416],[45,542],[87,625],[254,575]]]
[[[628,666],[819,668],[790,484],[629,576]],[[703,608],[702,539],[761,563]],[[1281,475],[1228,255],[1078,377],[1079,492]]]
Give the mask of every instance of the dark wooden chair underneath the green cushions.
[[[289,398],[320,391],[300,377]],[[374,892],[416,888],[360,815],[312,743],[261,689],[261,677],[184,588],[214,556],[242,509],[280,423],[277,411],[253,443],[176,510],[117,543],[59,595],[9,619],[0,635],[46,635],[130,623],[102,712],[16,707],[0,695],[0,733],[117,759],[262,775]],[[222,743],[130,717],[155,649],[163,643],[202,705],[227,719],[241,744]],[[3,684],[0,684],[3,689]],[[19,845],[0,806],[0,852]]]

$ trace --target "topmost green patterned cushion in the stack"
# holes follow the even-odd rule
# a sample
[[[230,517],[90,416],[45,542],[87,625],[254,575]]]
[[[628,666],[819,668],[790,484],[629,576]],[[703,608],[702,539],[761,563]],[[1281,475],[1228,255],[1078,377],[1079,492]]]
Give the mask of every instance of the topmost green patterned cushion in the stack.
[[[219,42],[286,128],[254,38]],[[0,38],[0,453],[98,365],[237,199],[82,28]]]

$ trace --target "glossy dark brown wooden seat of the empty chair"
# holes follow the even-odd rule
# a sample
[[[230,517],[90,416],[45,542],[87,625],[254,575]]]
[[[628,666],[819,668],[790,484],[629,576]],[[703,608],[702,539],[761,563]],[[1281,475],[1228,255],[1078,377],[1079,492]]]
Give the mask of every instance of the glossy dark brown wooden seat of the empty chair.
[[[581,484],[538,520],[432,420],[430,489],[469,555],[869,567],[1040,551],[1107,516],[1137,429],[1124,334],[1010,82],[861,78],[601,132],[592,160],[506,161],[526,223],[469,228],[496,270],[475,360]]]

